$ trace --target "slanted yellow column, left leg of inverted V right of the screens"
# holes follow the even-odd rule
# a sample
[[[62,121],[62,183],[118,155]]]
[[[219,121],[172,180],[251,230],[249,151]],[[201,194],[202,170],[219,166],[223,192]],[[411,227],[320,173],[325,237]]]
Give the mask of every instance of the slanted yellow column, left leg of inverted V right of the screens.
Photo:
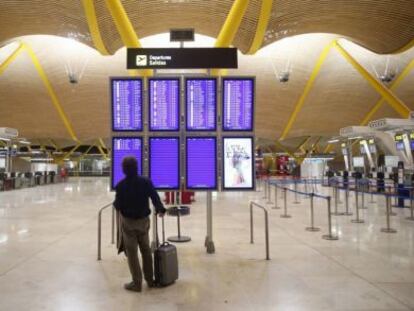
[[[295,108],[293,109],[292,114],[290,115],[288,122],[285,126],[285,129],[282,132],[282,136],[280,136],[280,139],[285,139],[286,136],[289,134],[289,131],[291,130],[293,123],[296,121],[296,118],[301,111],[303,104],[305,103],[306,97],[308,96],[310,90],[313,87],[313,83],[316,80],[316,77],[319,75],[319,72],[321,70],[321,67],[323,63],[325,62],[326,58],[328,57],[329,52],[334,47],[335,41],[329,43],[325,48],[322,50],[322,53],[319,55],[319,58],[315,64],[315,67],[313,68],[312,74],[306,83],[305,89],[303,90],[302,95],[300,96],[298,102],[295,105]]]

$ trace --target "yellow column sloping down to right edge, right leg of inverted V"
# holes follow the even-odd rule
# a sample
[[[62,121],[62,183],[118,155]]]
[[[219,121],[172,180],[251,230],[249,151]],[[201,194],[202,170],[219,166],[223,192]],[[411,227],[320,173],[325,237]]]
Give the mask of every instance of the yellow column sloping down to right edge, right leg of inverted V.
[[[395,94],[362,67],[338,42],[335,48],[364,77],[365,80],[388,102],[403,118],[408,118],[410,109]]]

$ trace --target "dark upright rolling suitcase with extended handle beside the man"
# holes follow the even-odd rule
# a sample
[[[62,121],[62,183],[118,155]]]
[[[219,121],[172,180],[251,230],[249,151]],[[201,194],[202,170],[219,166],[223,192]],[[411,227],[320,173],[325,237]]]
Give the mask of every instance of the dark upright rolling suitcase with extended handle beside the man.
[[[154,251],[154,277],[157,286],[167,286],[173,284],[178,279],[178,257],[177,248],[165,242],[164,218],[162,218],[162,244],[158,239],[158,217],[156,217],[156,244]]]

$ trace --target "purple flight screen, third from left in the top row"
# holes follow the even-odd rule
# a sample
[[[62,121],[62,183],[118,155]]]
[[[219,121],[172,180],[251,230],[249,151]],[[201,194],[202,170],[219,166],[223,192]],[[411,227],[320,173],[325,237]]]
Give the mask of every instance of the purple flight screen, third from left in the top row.
[[[217,79],[185,80],[187,131],[215,131],[217,111]]]

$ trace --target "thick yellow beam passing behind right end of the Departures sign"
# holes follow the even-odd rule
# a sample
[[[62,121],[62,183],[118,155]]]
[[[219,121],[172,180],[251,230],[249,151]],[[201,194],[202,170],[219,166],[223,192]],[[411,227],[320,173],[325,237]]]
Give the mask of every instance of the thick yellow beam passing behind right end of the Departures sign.
[[[214,47],[225,48],[229,47],[232,44],[233,39],[239,30],[241,21],[243,20],[244,13],[246,13],[248,5],[249,0],[235,0],[233,2],[230,12],[224,21],[223,26],[221,27],[219,35],[217,36]],[[213,69],[211,71],[212,75],[223,75],[225,73],[226,71],[220,69]]]

